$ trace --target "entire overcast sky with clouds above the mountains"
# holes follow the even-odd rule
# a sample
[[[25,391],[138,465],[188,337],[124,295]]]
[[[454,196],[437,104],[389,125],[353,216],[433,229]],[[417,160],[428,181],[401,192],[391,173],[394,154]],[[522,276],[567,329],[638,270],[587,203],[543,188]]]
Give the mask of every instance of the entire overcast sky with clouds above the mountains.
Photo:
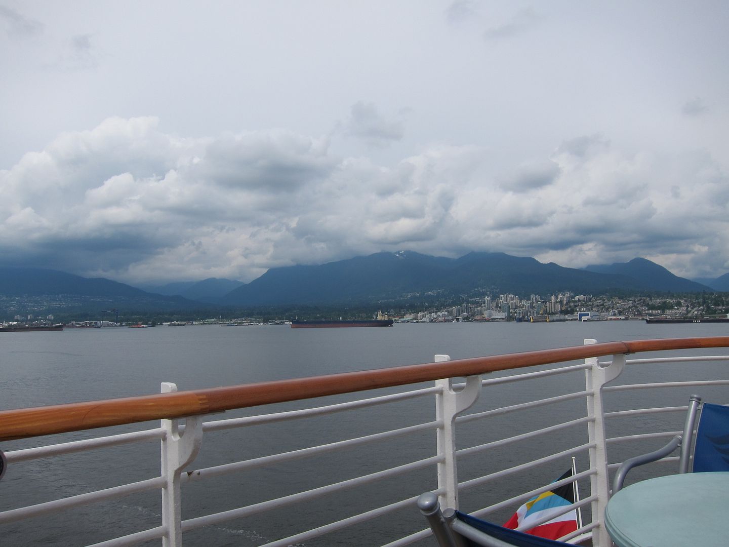
[[[0,0],[0,263],[729,271],[729,2]]]

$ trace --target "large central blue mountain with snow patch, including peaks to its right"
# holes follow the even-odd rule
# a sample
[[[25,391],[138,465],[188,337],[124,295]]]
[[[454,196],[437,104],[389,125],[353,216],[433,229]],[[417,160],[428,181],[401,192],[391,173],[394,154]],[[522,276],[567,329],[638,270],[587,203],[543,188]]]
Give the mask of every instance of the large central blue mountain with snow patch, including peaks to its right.
[[[228,293],[235,306],[361,304],[481,294],[551,295],[615,292],[701,292],[704,284],[674,276],[644,258],[585,269],[543,264],[530,257],[470,252],[459,258],[380,252],[323,265],[271,268]]]

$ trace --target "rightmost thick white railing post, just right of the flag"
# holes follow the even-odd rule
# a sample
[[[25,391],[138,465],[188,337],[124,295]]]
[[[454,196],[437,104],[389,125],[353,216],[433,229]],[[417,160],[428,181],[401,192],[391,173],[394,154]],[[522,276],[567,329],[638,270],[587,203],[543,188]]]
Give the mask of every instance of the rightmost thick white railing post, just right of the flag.
[[[594,339],[586,339],[585,344],[596,344]],[[599,526],[593,532],[593,546],[608,547],[612,545],[612,540],[604,527],[605,505],[610,497],[609,475],[607,472],[607,442],[605,441],[605,419],[604,407],[602,400],[602,387],[609,381],[612,381],[623,372],[625,366],[625,355],[615,354],[612,356],[612,362],[601,367],[597,357],[585,359],[585,364],[590,368],[585,370],[586,389],[590,392],[587,397],[588,416],[591,418],[588,422],[588,438],[590,443],[594,443],[595,447],[590,449],[590,468],[596,470],[596,473],[590,476],[590,494],[597,495],[596,500],[592,503],[593,522],[598,522]]]

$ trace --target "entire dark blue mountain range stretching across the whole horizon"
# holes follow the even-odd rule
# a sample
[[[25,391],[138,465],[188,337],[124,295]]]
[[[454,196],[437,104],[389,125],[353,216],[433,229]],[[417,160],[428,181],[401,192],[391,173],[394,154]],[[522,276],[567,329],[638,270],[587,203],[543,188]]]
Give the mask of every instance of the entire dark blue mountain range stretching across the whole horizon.
[[[729,274],[699,283],[644,258],[627,263],[564,268],[531,257],[470,252],[459,258],[379,252],[322,265],[271,268],[243,284],[230,279],[130,287],[39,268],[0,268],[0,298],[65,295],[75,306],[138,311],[235,306],[373,305],[457,300],[478,295],[626,294],[729,290]],[[149,292],[154,291],[154,292]]]

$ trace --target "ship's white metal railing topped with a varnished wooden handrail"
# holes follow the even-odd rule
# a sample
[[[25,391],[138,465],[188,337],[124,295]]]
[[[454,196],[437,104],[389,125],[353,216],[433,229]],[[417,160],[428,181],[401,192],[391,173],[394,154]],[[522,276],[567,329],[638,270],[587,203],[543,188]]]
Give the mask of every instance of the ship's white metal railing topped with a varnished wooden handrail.
[[[580,486],[578,492],[582,494],[575,505],[581,510],[582,523],[577,532],[566,539],[577,541],[584,535],[591,535],[593,545],[609,546],[609,538],[601,525],[604,505],[609,498],[609,470],[619,465],[620,459],[628,457],[622,456],[621,451],[628,455],[644,451],[631,448],[635,443],[660,441],[674,435],[677,431],[673,429],[682,423],[680,414],[686,408],[685,404],[646,408],[639,404],[636,408],[632,403],[642,403],[650,397],[634,394],[668,391],[673,394],[673,400],[687,401],[689,392],[703,394],[713,389],[714,400],[720,399],[729,384],[728,375],[724,376],[726,379],[696,378],[702,362],[712,365],[714,368],[709,373],[715,375],[717,363],[729,360],[727,355],[701,354],[705,353],[703,349],[729,347],[729,337],[607,344],[585,342],[585,346],[573,348],[468,360],[451,361],[448,356],[440,355],[433,363],[425,365],[194,392],[177,392],[174,384],[163,384],[160,395],[2,411],[0,441],[3,443],[0,448],[6,451],[9,470],[0,481],[0,507],[9,508],[0,512],[0,537],[19,538],[14,544],[29,545],[31,541],[22,543],[23,533],[30,533],[39,522],[47,526],[52,521],[62,530],[61,534],[66,534],[61,542],[63,545],[72,545],[75,541],[75,544],[123,546],[162,539],[165,546],[180,546],[183,537],[190,545],[215,545],[214,539],[205,535],[206,530],[208,534],[211,530],[215,533],[223,530],[225,533],[241,532],[246,543],[241,540],[239,545],[288,546],[318,538],[316,545],[379,543],[389,547],[405,546],[422,543],[429,536],[415,509],[415,500],[421,492],[432,490],[439,494],[443,505],[460,507],[478,516],[490,516],[496,521],[504,520],[504,511],[507,518],[529,497],[554,488],[555,484],[550,484],[550,480],[561,475],[562,468],[568,467],[568,462],[575,457],[578,462],[576,474],[557,484],[576,481]],[[681,352],[685,349],[701,351],[692,356],[660,354],[649,359],[625,359],[630,353]],[[608,358],[600,362],[600,357]],[[569,364],[578,360],[577,364]],[[554,363],[567,365],[503,376],[503,371]],[[626,368],[644,365],[663,367],[661,370],[668,373],[661,373],[661,376],[670,381],[605,385],[616,383]],[[689,365],[690,381],[671,377],[679,372],[686,376]],[[483,379],[483,374],[492,372],[502,376]],[[459,383],[454,379],[465,381]],[[387,392],[361,400],[336,400],[316,408],[276,407],[254,416],[203,422],[203,416],[236,408],[432,381],[435,381],[434,385],[415,386],[416,389],[408,392]],[[537,385],[537,389],[524,388],[530,383]],[[536,400],[528,396],[534,392],[540,394]],[[427,402],[433,398],[434,416],[432,403]],[[612,409],[613,399],[617,410]],[[625,402],[627,406],[620,406]],[[610,406],[607,411],[606,405]],[[422,411],[428,407],[430,413]],[[348,427],[351,422],[344,416],[354,411],[374,413],[372,422],[381,426],[379,430],[351,435]],[[664,416],[674,417],[664,419]],[[178,423],[181,418],[186,418],[184,425]],[[48,446],[17,448],[15,445],[20,441],[9,442],[39,435],[69,432],[79,435],[76,432],[80,430],[151,419],[161,419],[160,427]],[[316,421],[322,419],[330,422],[321,426]],[[638,422],[637,426],[625,425],[631,420]],[[308,429],[300,425],[309,421],[316,424]],[[615,430],[620,434],[609,435],[608,423],[615,423]],[[302,435],[303,438],[322,438],[324,441],[314,446],[298,446],[300,439],[294,439],[297,442],[293,444],[297,446],[290,449],[267,449],[265,435],[255,432],[267,427],[287,427],[294,433],[308,432]],[[343,436],[322,436],[327,428]],[[236,441],[232,449],[225,435],[235,431],[241,433],[241,441]],[[161,473],[157,470],[141,476],[144,470],[153,469],[149,462],[145,465],[139,462],[141,454],[151,454],[148,448],[141,449],[149,441],[161,443]],[[201,447],[216,446],[216,443],[222,443],[224,449],[213,457],[198,454]],[[111,448],[122,451],[122,460],[128,468],[109,474],[114,477],[133,475],[136,480],[117,484],[121,481],[114,478],[110,479],[111,486],[58,499],[23,501],[21,506],[15,506],[13,500],[7,499],[9,492],[22,491],[22,485],[17,486],[15,481],[23,480],[24,464],[36,464],[28,476],[43,478],[50,475],[44,473],[37,462],[55,461],[55,458],[66,461],[70,454],[95,455],[100,451],[107,454],[107,449]],[[248,457],[229,461],[238,453]],[[104,454],[97,459],[105,459]],[[216,461],[221,457],[227,459]],[[311,467],[312,462],[321,464],[321,468],[308,470],[307,480],[300,478],[305,473],[299,473],[299,470]],[[345,464],[351,464],[356,473],[348,474],[349,468],[338,469],[340,465],[346,467]],[[555,473],[555,469],[559,473]],[[239,479],[241,476],[247,478]],[[241,484],[241,480],[246,482]],[[296,483],[300,483],[298,488]],[[220,508],[217,499],[220,496],[207,494],[206,490],[200,489],[204,485],[210,485],[209,489],[214,492],[223,487],[232,489],[233,494],[241,492],[241,503],[233,508]],[[354,492],[354,497],[358,497],[357,493],[363,490],[368,493],[361,496],[362,500],[381,499],[383,503],[362,507],[362,503],[353,502],[353,494],[342,497],[343,492]],[[109,503],[113,508],[119,508],[113,504],[150,494],[158,500],[160,492],[162,503],[156,525],[147,526],[145,522],[128,518],[120,520],[111,513],[101,531],[98,524],[91,525],[87,532],[77,526],[63,527],[66,515],[79,508]],[[226,495],[226,501],[235,497]],[[12,497],[24,500],[21,495]],[[208,502],[214,509],[206,506]],[[147,501],[140,503],[144,505]],[[348,505],[358,507],[350,511]],[[183,518],[183,507],[185,513],[187,508],[194,508],[195,515]],[[292,529],[288,517],[295,515],[297,521],[305,523],[308,521],[303,514],[306,511],[312,513],[312,527]],[[393,515],[402,515],[402,519],[394,519]],[[252,527],[235,524],[237,532],[222,528],[231,522],[250,521],[255,523]],[[257,528],[255,532],[254,528]],[[265,533],[260,529],[265,529]],[[270,539],[272,535],[276,538]],[[334,543],[327,543],[327,538],[335,536]],[[106,539],[100,540],[104,537]]]

